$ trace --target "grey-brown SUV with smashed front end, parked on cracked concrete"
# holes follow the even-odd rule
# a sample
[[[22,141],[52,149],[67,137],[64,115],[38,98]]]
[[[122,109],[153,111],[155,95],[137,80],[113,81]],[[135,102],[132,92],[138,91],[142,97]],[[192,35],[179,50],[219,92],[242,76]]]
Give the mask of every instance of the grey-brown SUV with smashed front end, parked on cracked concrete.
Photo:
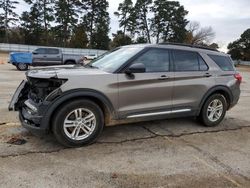
[[[84,67],[26,76],[9,110],[68,147],[90,144],[120,122],[194,116],[216,126],[238,102],[242,80],[227,54],[179,44],[124,46]]]

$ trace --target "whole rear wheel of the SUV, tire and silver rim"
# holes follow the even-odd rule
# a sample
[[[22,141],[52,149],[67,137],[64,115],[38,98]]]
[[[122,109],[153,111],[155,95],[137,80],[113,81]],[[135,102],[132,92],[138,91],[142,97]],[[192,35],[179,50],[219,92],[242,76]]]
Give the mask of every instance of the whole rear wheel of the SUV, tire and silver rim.
[[[227,101],[225,97],[221,94],[213,94],[204,103],[199,120],[206,127],[215,127],[223,120],[226,111]]]

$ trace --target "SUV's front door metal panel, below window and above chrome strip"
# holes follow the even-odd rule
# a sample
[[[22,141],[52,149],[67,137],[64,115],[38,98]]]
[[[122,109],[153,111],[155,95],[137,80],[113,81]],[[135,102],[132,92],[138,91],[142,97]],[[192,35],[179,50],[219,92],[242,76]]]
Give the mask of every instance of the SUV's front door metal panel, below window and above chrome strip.
[[[162,76],[166,78],[162,78]],[[124,73],[118,75],[120,118],[130,115],[171,111],[173,92],[172,72],[136,73],[131,79]]]

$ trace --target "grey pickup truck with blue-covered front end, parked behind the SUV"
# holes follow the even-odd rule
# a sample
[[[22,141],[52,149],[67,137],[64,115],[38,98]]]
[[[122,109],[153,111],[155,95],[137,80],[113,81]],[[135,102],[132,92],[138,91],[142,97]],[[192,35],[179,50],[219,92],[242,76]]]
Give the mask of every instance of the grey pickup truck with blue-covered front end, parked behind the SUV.
[[[29,66],[70,65],[83,61],[83,55],[63,54],[58,48],[38,48],[32,53],[12,52],[9,63],[18,70],[27,70]]]

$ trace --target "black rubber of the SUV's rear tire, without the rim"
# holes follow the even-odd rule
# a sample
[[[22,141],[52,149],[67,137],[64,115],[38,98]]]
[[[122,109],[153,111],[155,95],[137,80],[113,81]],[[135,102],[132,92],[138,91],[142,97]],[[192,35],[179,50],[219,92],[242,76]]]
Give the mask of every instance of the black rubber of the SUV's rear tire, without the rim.
[[[208,107],[215,100],[220,101],[220,103],[222,105],[222,111],[221,111],[221,115],[219,116],[219,118],[216,121],[211,121],[209,119]],[[227,101],[226,101],[225,97],[221,94],[213,94],[210,97],[208,97],[208,99],[204,103],[204,105],[201,109],[200,115],[199,115],[199,120],[206,127],[215,127],[215,126],[219,125],[220,122],[223,120],[223,118],[226,115],[226,111],[227,111]]]

